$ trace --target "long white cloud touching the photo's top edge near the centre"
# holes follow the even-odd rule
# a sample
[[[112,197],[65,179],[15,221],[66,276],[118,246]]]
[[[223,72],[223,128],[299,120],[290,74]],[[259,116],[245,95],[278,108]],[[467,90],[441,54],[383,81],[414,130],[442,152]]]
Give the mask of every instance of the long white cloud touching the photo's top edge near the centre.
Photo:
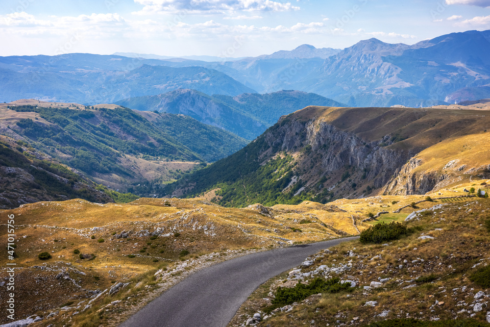
[[[134,0],[144,5],[136,15],[155,13],[225,13],[230,11],[290,11],[299,10],[291,2],[272,0]]]

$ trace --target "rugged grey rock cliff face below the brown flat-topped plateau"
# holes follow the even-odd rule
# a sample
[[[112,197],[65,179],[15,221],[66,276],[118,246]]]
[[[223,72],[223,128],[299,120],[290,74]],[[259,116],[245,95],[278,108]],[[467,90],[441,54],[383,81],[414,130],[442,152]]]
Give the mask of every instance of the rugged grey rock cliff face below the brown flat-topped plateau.
[[[331,189],[335,197],[359,197],[367,186],[383,187],[411,154],[384,147],[389,135],[369,141],[326,121],[289,122],[264,136],[272,149],[264,152],[264,158],[275,155],[276,149],[293,154],[295,176],[305,189]],[[328,179],[316,185],[323,176]]]

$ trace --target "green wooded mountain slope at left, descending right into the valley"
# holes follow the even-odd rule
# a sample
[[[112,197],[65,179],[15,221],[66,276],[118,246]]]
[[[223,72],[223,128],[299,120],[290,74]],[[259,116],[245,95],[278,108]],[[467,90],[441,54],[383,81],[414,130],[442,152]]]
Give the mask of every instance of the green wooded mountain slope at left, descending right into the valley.
[[[75,109],[21,105],[0,110],[3,135],[28,141],[98,183],[119,189],[141,181],[169,180],[179,170],[172,162],[190,169],[199,161],[217,160],[246,144],[244,139],[188,117],[145,113],[145,118],[119,106]]]

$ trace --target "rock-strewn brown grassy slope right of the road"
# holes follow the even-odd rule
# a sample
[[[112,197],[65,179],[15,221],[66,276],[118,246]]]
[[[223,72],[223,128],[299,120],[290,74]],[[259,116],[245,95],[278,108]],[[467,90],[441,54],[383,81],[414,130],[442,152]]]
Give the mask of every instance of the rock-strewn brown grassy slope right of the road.
[[[388,200],[385,197],[379,198]],[[321,326],[341,323],[366,326],[368,323],[393,318],[411,317],[424,321],[437,318],[465,319],[473,313],[476,321],[486,323],[488,298],[478,301],[484,303],[482,311],[473,312],[470,304],[477,302],[473,296],[478,291],[487,293],[487,290],[468,278],[478,268],[490,264],[488,247],[485,246],[490,233],[484,224],[489,219],[487,212],[490,202],[488,199],[456,202],[439,200],[430,205],[445,202],[447,204],[442,209],[428,211],[420,215],[418,220],[410,222],[408,226],[415,227],[414,233],[391,241],[388,245],[363,245],[359,241],[352,241],[330,249],[329,253],[312,256],[315,259],[314,265],[303,268],[302,273],[314,271],[320,265],[334,267],[350,262],[350,270],[341,275],[331,273],[329,276],[353,279],[358,288],[349,295],[338,293],[312,296],[309,301],[300,302],[288,313],[274,314],[264,324],[274,327],[303,326],[313,324],[314,321],[315,325]],[[426,203],[421,207],[428,205]],[[434,238],[418,239],[421,235]],[[349,256],[349,251],[355,255]],[[379,257],[375,257],[377,255]],[[399,268],[399,265],[403,267]],[[432,281],[416,281],[417,277],[431,274],[434,274]],[[327,275],[325,277],[329,277]],[[378,281],[378,277],[391,279],[383,287],[363,289],[371,281]],[[307,279],[312,278],[303,278]],[[270,291],[275,291],[278,286],[292,287],[294,280],[287,273],[271,279],[252,294],[229,326],[240,326],[248,317],[270,304]],[[364,306],[368,301],[378,303],[374,307]],[[436,302],[439,304],[433,305]],[[383,311],[388,311],[386,316],[378,316]]]

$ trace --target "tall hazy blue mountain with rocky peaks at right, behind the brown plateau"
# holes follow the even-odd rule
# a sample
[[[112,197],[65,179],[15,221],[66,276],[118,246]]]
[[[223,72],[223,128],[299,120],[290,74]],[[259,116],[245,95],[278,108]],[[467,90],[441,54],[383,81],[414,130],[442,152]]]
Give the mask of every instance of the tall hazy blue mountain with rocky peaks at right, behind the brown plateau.
[[[413,46],[361,41],[292,84],[355,106],[427,106],[490,97],[490,31],[451,33]]]

